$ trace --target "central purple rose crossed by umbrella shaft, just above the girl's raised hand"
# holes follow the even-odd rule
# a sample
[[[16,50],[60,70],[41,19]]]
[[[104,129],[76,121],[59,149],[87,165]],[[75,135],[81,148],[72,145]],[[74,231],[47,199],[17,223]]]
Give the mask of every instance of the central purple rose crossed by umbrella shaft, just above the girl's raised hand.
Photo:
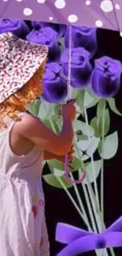
[[[72,48],[71,86],[82,89],[90,83],[92,67],[90,53],[83,48]],[[65,76],[68,76],[68,49],[61,55]]]

